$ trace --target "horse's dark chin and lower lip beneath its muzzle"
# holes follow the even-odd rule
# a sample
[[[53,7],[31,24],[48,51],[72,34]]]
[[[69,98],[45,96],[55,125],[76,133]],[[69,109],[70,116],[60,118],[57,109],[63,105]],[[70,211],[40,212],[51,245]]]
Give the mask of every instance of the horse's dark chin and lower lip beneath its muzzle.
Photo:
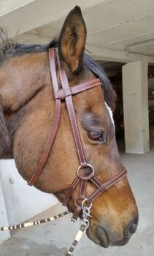
[[[93,243],[99,244],[101,247],[109,247],[109,238],[104,227],[88,227],[87,236]]]

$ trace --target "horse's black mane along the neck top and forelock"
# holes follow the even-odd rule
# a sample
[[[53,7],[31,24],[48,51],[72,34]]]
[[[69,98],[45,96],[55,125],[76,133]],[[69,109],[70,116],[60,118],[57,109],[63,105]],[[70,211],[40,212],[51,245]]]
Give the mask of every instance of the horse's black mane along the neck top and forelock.
[[[23,45],[19,44],[11,39],[8,39],[7,33],[4,32],[3,29],[0,29],[0,64],[3,61],[12,58],[13,56],[23,55],[26,53],[39,53],[43,51],[47,51],[49,48],[55,47],[58,45],[58,39],[53,39],[47,45]],[[115,91],[112,89],[112,85],[107,78],[104,69],[96,63],[91,57],[85,53],[84,62],[88,69],[91,69],[94,75],[99,78],[102,82],[103,91],[104,91],[104,99],[112,108],[115,109]]]

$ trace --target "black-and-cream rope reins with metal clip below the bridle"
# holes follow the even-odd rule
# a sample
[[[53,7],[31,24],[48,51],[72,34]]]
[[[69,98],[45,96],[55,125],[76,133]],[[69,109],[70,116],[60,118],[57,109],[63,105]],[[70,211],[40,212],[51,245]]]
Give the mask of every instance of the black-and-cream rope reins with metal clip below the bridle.
[[[72,246],[70,246],[69,251],[66,253],[66,256],[72,255],[72,252],[74,251],[75,246],[77,246],[78,242],[82,238],[82,235],[83,235],[84,231],[89,226],[88,217],[91,217],[90,216],[90,208],[82,206],[82,211],[83,211],[83,214],[82,214],[80,229],[79,229],[79,231],[77,232],[77,235],[74,238]],[[40,219],[40,220],[37,220],[35,222],[25,222],[25,223],[22,223],[20,225],[0,227],[0,231],[17,230],[17,229],[21,229],[23,227],[32,227],[32,226],[40,225],[40,224],[43,224],[43,223],[46,223],[46,222],[52,222],[53,220],[59,219],[63,216],[66,216],[69,213],[70,213],[70,211],[64,211],[62,214],[58,214],[58,215],[55,215],[53,217],[49,217],[47,219]]]

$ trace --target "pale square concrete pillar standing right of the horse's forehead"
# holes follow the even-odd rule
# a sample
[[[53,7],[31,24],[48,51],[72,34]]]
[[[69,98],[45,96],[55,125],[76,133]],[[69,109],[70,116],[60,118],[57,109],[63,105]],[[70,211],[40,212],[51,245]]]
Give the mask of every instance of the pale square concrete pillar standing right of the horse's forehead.
[[[147,61],[123,66],[123,111],[126,152],[149,151]]]

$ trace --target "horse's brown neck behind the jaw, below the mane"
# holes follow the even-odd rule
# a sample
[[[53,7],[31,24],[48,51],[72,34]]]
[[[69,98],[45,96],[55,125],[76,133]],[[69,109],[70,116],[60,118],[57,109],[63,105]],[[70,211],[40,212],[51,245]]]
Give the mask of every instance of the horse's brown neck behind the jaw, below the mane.
[[[50,80],[47,53],[30,53],[0,67],[0,159],[13,158],[12,142],[24,107]]]

